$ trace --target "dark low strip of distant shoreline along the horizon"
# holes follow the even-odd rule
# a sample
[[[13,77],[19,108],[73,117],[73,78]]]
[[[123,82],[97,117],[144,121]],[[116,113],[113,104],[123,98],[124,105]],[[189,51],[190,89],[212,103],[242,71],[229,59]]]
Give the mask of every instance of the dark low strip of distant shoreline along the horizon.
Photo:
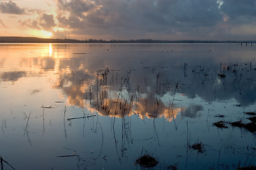
[[[36,37],[11,37],[0,36],[0,43],[240,43],[245,45],[252,45],[256,40],[74,40],[74,39],[51,39],[51,38],[36,38]]]

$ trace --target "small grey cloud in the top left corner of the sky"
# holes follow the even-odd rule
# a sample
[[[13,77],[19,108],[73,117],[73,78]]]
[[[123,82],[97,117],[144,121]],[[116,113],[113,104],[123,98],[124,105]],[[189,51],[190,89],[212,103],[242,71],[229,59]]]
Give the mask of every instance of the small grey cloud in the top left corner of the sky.
[[[24,8],[18,7],[14,2],[9,1],[9,2],[1,2],[0,4],[0,11],[2,13],[11,13],[11,14],[17,14],[17,15],[22,15],[26,14]]]

